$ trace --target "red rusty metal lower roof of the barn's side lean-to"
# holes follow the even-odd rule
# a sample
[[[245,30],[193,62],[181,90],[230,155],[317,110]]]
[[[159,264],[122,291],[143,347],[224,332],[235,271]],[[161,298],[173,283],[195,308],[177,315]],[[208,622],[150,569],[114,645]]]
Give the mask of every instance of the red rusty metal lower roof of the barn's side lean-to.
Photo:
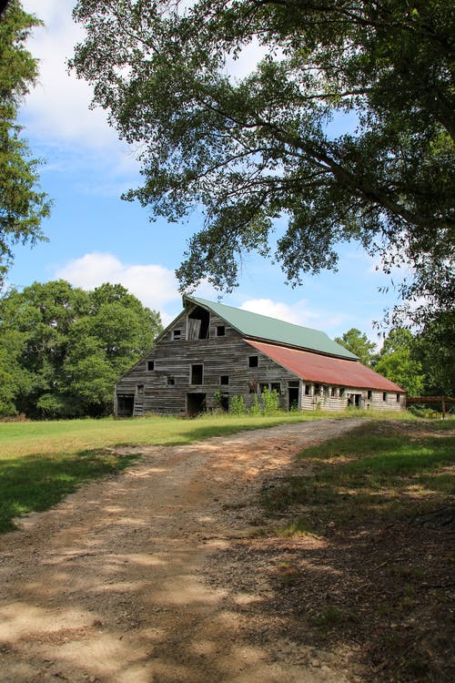
[[[359,387],[359,389],[379,389],[381,392],[405,391],[398,384],[390,382],[359,361],[347,361],[320,353],[289,349],[286,346],[251,342],[247,339],[245,342],[308,382]]]

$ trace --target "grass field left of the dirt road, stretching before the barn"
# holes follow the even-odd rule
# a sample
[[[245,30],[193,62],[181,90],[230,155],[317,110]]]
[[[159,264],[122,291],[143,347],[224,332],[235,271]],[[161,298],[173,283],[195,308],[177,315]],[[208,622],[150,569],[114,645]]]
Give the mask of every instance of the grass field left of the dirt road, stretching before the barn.
[[[279,423],[324,417],[343,419],[361,414],[224,414],[195,420],[151,416],[131,420],[0,423],[0,533],[14,528],[15,517],[46,510],[90,479],[124,469],[134,458],[114,454],[111,449],[116,446],[185,444]],[[406,413],[389,416],[410,419]],[[380,413],[380,417],[387,415]]]

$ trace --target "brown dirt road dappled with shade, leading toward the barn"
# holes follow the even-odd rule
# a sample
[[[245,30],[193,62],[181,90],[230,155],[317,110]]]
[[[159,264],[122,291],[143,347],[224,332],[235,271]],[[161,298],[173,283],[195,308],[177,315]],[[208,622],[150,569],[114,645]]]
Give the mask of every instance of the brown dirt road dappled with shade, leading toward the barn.
[[[256,581],[248,592],[240,582],[227,592],[207,582],[205,568],[220,548],[258,534],[255,500],[266,477],[292,466],[305,445],[357,423],[142,447],[124,474],[87,485],[1,536],[0,681],[355,680],[334,653],[303,657],[291,634],[253,642],[248,614],[237,607],[266,598],[272,587]]]

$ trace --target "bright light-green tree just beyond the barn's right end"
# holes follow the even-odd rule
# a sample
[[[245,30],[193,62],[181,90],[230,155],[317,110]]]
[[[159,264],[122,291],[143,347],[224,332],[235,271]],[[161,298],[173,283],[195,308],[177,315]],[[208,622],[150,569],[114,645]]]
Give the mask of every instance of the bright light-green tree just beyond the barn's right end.
[[[399,384],[410,396],[421,396],[425,378],[421,362],[414,357],[414,340],[409,330],[397,328],[389,332],[375,370]]]

